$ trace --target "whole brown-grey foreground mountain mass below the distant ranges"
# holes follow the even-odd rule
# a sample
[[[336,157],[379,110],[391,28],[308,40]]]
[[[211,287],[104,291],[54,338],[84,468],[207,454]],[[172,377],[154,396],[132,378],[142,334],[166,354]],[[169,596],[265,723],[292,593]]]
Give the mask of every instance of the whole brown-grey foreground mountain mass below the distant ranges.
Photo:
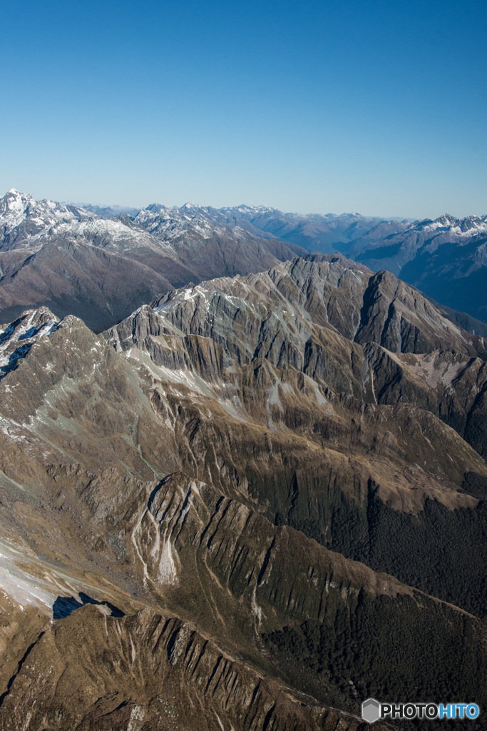
[[[482,337],[295,259],[0,340],[1,728],[485,712]]]

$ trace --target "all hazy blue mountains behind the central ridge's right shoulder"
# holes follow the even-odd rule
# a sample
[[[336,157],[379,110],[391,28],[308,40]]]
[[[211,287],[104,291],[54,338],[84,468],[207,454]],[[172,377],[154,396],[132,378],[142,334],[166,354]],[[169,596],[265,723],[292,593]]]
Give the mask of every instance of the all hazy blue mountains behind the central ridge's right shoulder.
[[[487,335],[487,216],[410,222],[358,213],[299,216],[264,206],[221,211],[307,251],[340,251],[372,270],[391,271],[441,303],[462,327]]]

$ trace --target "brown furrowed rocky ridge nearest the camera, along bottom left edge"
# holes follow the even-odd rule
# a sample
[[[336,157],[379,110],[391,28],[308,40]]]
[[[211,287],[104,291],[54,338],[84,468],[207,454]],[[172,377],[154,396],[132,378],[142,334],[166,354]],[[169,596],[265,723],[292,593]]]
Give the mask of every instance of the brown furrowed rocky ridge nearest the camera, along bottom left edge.
[[[356,731],[362,725],[344,713],[302,708],[277,683],[231,660],[178,618],[148,608],[107,618],[92,605],[37,640],[2,711],[2,730],[26,722],[33,730],[63,731],[318,731],[337,724]]]

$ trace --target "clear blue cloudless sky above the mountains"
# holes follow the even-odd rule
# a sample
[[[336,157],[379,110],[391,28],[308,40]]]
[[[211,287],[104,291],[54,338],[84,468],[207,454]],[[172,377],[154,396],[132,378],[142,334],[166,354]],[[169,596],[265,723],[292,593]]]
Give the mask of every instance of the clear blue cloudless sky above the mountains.
[[[487,213],[485,0],[3,3],[0,195]]]

